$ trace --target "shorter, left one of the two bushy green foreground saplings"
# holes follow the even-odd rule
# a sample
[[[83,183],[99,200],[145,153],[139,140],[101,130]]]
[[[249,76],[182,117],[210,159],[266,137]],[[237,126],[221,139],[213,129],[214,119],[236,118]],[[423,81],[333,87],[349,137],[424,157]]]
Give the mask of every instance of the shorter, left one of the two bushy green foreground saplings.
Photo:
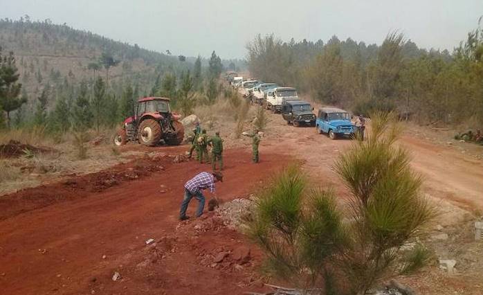
[[[346,240],[331,190],[308,190],[295,165],[259,195],[245,229],[266,252],[266,271],[304,290],[329,277]]]

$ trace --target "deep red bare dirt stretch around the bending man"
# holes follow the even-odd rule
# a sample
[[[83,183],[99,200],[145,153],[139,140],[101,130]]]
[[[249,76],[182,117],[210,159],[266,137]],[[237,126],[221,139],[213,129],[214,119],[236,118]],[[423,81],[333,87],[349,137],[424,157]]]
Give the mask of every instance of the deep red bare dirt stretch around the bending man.
[[[242,150],[228,150],[224,161],[224,182],[217,184],[224,200],[250,193],[283,164],[277,154],[266,154],[253,165]],[[162,157],[153,167],[138,179],[122,172],[139,172],[130,163],[1,197],[0,293],[241,294],[257,289],[253,271],[220,271],[198,263],[205,253],[248,244],[241,234],[222,227],[193,235],[194,221],[180,226],[177,220],[184,182],[210,166]],[[106,184],[106,178],[113,181]],[[196,206],[193,200],[188,214]],[[157,246],[146,246],[148,238]],[[252,257],[248,267],[260,260],[253,249]],[[111,280],[114,271],[122,280]]]

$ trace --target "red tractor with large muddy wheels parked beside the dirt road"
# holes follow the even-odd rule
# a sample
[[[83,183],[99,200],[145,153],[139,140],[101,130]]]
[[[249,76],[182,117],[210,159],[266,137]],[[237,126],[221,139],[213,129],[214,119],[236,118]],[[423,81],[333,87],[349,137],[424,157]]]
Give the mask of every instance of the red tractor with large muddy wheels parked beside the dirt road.
[[[141,98],[133,106],[133,116],[124,120],[114,136],[115,145],[138,141],[143,145],[158,145],[163,140],[168,145],[179,145],[185,129],[181,116],[170,110],[170,98]]]

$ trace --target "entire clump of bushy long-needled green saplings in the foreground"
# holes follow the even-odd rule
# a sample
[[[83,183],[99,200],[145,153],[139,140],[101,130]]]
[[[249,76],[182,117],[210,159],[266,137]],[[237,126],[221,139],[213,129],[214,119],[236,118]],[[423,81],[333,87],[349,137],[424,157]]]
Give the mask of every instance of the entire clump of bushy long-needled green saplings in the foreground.
[[[334,170],[349,190],[338,204],[292,165],[260,193],[246,233],[266,253],[265,270],[303,292],[366,294],[376,283],[417,271],[428,261],[417,241],[435,216],[422,180],[397,147],[393,114],[372,116],[372,131],[341,154]],[[344,209],[343,209],[344,208]]]

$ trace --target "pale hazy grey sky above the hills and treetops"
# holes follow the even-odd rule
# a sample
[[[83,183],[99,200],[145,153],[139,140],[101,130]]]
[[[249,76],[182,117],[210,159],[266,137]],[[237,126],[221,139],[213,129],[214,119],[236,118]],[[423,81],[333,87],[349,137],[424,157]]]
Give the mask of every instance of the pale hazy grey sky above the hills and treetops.
[[[483,0],[0,0],[0,17],[51,19],[175,55],[244,57],[261,33],[289,40],[332,35],[380,44],[400,30],[424,48],[453,48],[477,26]]]

